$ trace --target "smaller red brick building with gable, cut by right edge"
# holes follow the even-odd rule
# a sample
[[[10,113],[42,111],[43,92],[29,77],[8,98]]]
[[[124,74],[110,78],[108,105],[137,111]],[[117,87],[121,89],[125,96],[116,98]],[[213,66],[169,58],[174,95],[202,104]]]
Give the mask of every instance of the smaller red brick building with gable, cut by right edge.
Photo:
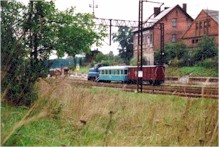
[[[219,11],[202,10],[182,39],[189,48],[195,48],[203,35],[213,37],[218,46]]]

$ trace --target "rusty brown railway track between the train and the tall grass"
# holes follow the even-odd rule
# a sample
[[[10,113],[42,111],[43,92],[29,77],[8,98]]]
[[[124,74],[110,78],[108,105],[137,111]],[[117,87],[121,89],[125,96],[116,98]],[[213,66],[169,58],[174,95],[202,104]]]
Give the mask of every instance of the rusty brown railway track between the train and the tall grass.
[[[88,87],[109,87],[118,88],[124,91],[135,92],[136,85],[120,83],[96,83],[84,80],[70,80],[72,83]],[[142,92],[151,94],[178,95],[192,98],[213,98],[218,99],[218,86],[210,85],[171,85],[160,86],[144,85]]]

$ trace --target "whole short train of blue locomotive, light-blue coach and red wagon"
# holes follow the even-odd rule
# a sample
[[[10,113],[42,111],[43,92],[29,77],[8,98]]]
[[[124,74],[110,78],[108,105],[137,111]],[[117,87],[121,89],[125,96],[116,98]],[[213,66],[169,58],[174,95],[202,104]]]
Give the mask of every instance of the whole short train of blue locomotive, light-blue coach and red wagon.
[[[138,68],[137,66],[104,66],[98,68],[99,71],[95,75],[89,72],[88,80],[94,79],[97,82],[122,82],[122,83],[137,83]],[[165,79],[165,67],[160,65],[145,65],[142,67],[143,82],[148,82],[152,85],[160,85]]]

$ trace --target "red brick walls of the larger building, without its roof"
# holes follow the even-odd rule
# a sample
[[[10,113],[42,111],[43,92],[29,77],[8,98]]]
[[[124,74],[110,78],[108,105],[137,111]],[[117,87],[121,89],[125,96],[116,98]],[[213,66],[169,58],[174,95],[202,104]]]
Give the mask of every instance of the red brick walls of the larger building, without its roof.
[[[161,12],[162,13],[162,12]],[[173,19],[176,25],[173,26]],[[149,30],[144,31],[143,55],[148,64],[154,64],[154,53],[160,50],[160,24],[164,23],[164,43],[176,43],[181,40],[185,31],[192,23],[179,6],[176,6],[171,12],[164,16],[157,24]],[[174,36],[174,40],[173,40]],[[152,37],[152,38],[150,38]],[[134,55],[137,56],[137,34],[134,36]],[[151,42],[149,42],[149,40]],[[149,61],[148,61],[149,60]]]

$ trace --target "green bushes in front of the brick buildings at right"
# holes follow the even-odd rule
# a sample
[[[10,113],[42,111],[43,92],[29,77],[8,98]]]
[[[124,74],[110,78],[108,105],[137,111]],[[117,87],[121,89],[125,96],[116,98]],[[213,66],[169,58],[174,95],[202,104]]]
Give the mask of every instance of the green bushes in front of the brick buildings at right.
[[[159,60],[159,54],[155,54],[155,60]],[[173,66],[201,65],[216,67],[218,52],[214,39],[203,36],[198,43],[198,48],[188,49],[182,42],[166,44],[164,48],[164,62]]]

